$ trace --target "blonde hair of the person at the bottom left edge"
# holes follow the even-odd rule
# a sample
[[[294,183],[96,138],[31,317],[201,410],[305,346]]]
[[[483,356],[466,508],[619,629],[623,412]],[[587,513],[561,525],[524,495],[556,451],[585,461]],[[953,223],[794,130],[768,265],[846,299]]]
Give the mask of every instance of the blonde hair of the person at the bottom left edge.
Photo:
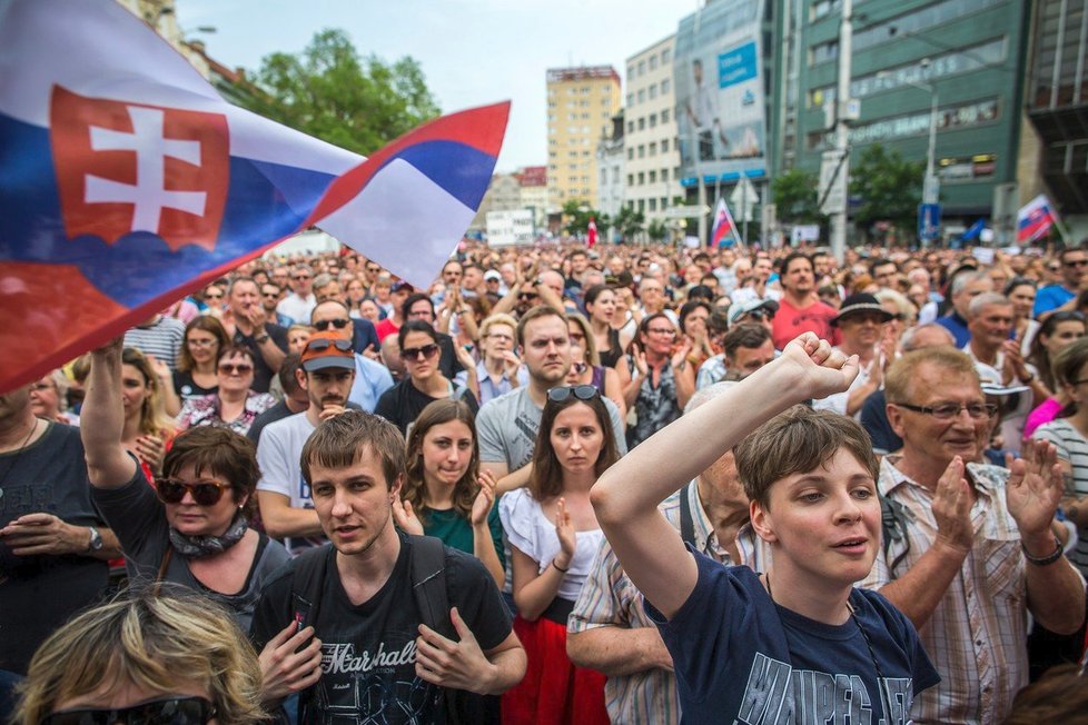
[[[221,608],[167,588],[128,592],[34,654],[16,725],[267,722],[253,646]]]

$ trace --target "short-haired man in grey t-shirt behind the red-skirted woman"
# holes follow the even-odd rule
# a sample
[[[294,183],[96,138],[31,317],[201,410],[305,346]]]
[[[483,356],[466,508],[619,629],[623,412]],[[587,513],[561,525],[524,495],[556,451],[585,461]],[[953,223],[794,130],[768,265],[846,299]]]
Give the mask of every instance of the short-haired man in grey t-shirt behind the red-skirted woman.
[[[479,465],[498,479],[506,493],[528,483],[536,434],[547,391],[563,386],[571,369],[571,338],[566,318],[553,307],[534,307],[517,324],[517,345],[528,368],[528,385],[493,398],[476,414]],[[614,403],[602,397],[620,453],[626,453],[623,421]]]

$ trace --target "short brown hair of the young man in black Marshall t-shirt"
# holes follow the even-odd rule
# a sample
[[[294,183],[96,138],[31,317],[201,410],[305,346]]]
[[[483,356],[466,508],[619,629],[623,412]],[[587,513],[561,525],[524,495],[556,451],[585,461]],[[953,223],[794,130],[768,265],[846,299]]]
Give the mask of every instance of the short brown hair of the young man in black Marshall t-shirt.
[[[313,485],[309,467],[347,468],[369,448],[382,460],[388,488],[404,473],[404,436],[400,429],[379,416],[363,410],[346,410],[323,420],[303,446],[303,479]]]

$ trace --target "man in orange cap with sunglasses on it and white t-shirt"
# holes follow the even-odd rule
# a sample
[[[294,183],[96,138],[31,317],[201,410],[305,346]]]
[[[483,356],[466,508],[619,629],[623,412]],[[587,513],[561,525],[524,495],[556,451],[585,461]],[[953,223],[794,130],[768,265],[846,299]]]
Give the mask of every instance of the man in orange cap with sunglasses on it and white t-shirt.
[[[347,409],[348,394],[355,383],[352,341],[339,331],[315,332],[303,349],[303,367],[297,377],[309,396],[309,407],[270,424],[257,445],[260,518],[268,535],[283,539],[295,555],[325,543],[299,456],[320,421]]]

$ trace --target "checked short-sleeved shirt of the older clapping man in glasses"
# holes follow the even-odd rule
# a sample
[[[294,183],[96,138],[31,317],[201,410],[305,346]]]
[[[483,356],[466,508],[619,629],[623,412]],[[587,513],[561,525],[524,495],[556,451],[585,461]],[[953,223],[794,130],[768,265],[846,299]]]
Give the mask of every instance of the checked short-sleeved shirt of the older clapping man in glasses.
[[[893,575],[889,563],[903,554],[903,543],[893,542],[887,553],[881,548],[860,585],[867,589],[906,574],[937,537],[932,494],[896,468],[900,458],[881,461],[879,488],[907,508],[909,550]],[[978,464],[967,469],[978,494],[971,507],[975,548],[918,630],[941,682],[914,697],[917,725],[997,725],[1028,684],[1027,572],[1020,532],[1005,498],[1009,471]]]

